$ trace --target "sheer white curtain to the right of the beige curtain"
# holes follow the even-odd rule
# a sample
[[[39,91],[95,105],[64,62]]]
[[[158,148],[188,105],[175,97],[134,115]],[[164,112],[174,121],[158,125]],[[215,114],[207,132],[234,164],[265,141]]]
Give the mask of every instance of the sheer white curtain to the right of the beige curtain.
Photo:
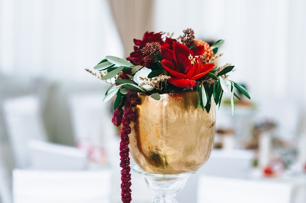
[[[154,31],[193,28],[197,38],[224,39],[219,64],[253,101],[275,97],[306,103],[306,1],[156,0]]]

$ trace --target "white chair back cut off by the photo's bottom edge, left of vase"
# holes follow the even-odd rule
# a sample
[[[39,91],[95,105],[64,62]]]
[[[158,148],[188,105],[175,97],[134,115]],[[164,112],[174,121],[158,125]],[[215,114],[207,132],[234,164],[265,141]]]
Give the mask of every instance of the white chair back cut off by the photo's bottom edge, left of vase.
[[[14,203],[110,203],[111,170],[13,171]]]

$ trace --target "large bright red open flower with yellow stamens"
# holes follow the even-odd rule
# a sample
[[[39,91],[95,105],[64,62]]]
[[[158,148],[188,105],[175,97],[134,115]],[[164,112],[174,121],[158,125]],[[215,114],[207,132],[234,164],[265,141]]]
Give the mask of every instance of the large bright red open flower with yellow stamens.
[[[161,47],[164,69],[171,78],[168,81],[177,87],[193,88],[196,80],[205,76],[214,68],[214,64],[202,64],[200,58],[186,45],[173,42],[173,50]]]

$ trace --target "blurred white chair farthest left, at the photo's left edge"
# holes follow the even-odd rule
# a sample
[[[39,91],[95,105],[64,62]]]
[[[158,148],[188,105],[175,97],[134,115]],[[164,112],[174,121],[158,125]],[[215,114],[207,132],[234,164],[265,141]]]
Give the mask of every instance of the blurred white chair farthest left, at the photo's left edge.
[[[35,95],[26,95],[5,99],[3,117],[15,167],[29,167],[30,156],[27,141],[31,139],[48,140],[40,115],[39,98]]]

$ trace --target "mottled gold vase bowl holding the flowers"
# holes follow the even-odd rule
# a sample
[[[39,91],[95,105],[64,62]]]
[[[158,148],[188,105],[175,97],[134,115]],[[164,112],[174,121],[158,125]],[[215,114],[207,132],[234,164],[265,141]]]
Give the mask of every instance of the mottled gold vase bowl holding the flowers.
[[[159,101],[139,94],[136,120],[131,123],[134,161],[154,174],[196,171],[209,158],[215,136],[216,110],[198,106],[198,93],[161,94]]]

